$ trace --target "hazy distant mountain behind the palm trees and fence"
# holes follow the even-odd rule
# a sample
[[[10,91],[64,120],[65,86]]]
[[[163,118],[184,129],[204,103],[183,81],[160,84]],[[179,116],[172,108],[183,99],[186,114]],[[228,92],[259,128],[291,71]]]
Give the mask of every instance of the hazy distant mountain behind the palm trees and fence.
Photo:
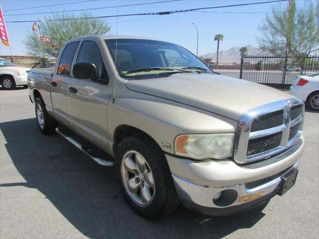
[[[247,45],[248,48],[248,55],[258,55],[258,54],[265,54],[261,49],[258,47],[253,47],[252,45]],[[219,63],[240,63],[240,46],[235,46],[230,48],[229,50],[220,51],[218,55]],[[209,58],[212,59],[213,62],[216,62],[217,52],[208,53],[206,55],[202,55],[204,59]]]

